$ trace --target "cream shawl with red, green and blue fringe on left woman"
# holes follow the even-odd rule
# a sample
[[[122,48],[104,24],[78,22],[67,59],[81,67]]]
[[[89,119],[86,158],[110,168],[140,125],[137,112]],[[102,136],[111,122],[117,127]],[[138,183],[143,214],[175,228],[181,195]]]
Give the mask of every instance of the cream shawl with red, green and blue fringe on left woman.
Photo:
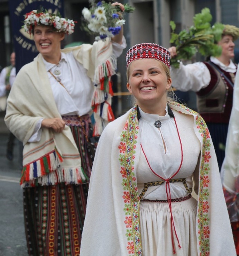
[[[62,51],[73,51],[74,57],[86,68],[95,85],[92,98],[96,120],[94,134],[100,135],[105,125],[113,119],[110,76],[115,72],[116,60],[112,56],[111,40]],[[33,62],[18,72],[8,97],[4,119],[9,130],[24,144],[22,186],[58,182],[78,184],[89,179],[81,168],[80,154],[68,126],[61,134],[43,128],[39,142],[27,142],[40,118],[56,117],[61,118],[61,115],[54,101],[43,57],[38,54]]]

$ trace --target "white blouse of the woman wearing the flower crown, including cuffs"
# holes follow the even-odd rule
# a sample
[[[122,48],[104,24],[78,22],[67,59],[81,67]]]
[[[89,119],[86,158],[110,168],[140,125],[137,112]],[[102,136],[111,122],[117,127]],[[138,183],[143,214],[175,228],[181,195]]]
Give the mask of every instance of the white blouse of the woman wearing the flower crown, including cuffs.
[[[126,48],[126,40],[123,36],[122,44],[112,41],[113,55],[118,58],[123,49]],[[61,116],[77,115],[83,116],[92,114],[91,99],[93,95],[94,86],[87,76],[87,71],[82,64],[76,61],[72,52],[61,53],[61,60],[59,63],[49,63],[43,58],[46,71],[49,77],[50,85],[52,87],[53,96],[56,102],[57,109]],[[59,75],[54,72],[58,70]],[[56,78],[61,79],[64,87],[57,82]],[[40,140],[42,119],[37,122],[34,134],[28,140],[29,143]]]

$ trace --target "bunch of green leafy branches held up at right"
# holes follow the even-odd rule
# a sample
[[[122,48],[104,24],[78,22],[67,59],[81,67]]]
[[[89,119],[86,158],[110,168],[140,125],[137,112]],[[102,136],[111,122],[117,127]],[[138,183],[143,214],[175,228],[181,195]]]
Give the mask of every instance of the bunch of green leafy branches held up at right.
[[[170,43],[173,43],[177,50],[177,55],[171,59],[171,65],[178,68],[180,60],[190,60],[192,56],[199,52],[203,56],[219,56],[221,47],[217,42],[221,39],[224,25],[215,23],[212,27],[210,22],[212,15],[208,8],[202,9],[194,18],[194,26],[189,30],[182,30],[179,34],[174,33],[176,25],[170,21],[172,28]]]

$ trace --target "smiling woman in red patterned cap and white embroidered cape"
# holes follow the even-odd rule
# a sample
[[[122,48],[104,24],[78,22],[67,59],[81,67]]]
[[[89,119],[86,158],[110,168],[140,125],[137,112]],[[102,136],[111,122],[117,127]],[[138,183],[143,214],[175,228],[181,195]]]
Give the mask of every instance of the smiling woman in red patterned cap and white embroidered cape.
[[[169,98],[169,51],[142,43],[126,61],[136,105],[100,137],[80,255],[235,256],[208,128]]]

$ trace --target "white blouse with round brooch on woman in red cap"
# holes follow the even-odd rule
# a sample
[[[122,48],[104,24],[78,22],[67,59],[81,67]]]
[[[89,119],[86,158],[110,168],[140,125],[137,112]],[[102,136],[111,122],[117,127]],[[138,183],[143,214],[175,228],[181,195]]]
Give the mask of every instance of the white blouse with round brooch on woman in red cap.
[[[177,120],[178,116],[175,117],[175,123],[174,118],[169,116],[167,108],[166,106],[165,116],[148,114],[139,108],[141,116],[139,119],[141,151],[137,167],[139,194],[144,189],[144,183],[162,180],[157,175],[164,179],[172,177],[180,168],[181,161],[180,171],[172,179],[186,178],[188,188],[193,187],[192,177],[197,169],[196,166],[201,151],[200,141],[197,139],[193,129],[194,120],[192,118],[188,124],[182,125],[181,121]],[[155,127],[154,122],[156,120],[161,121],[162,126],[160,128]],[[180,136],[183,133],[186,133],[187,136]],[[189,138],[190,144],[188,143]],[[157,175],[150,170],[149,165]],[[190,194],[182,182],[173,182],[169,186],[171,199],[182,198]],[[148,187],[143,199],[167,200],[166,182],[162,185]]]

